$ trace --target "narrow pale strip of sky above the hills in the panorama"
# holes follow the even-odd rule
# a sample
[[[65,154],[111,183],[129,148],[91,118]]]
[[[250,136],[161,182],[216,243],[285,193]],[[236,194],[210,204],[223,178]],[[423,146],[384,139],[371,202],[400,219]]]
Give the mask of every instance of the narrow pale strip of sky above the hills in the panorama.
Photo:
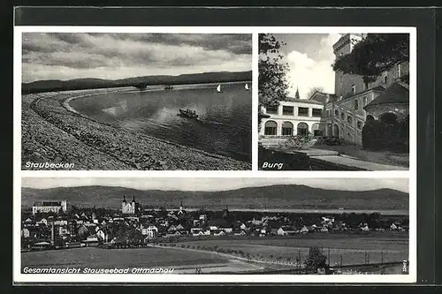
[[[225,191],[263,185],[309,185],[331,190],[366,191],[391,188],[408,192],[408,178],[293,178],[293,177],[24,177],[22,186],[46,189],[61,186],[110,185],[135,189]]]

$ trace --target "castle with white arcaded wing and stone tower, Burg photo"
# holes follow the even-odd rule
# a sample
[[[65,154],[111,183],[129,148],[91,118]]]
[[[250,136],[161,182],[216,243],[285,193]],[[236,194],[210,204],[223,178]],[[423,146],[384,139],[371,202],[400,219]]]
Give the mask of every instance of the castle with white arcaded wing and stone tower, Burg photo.
[[[345,34],[333,45],[336,58],[351,53],[364,34]],[[362,76],[335,72],[334,94],[316,92],[308,99],[289,98],[277,107],[263,108],[260,139],[313,134],[337,137],[362,145],[362,128],[367,120],[395,124],[408,119],[409,63],[393,64],[376,80],[365,83]]]

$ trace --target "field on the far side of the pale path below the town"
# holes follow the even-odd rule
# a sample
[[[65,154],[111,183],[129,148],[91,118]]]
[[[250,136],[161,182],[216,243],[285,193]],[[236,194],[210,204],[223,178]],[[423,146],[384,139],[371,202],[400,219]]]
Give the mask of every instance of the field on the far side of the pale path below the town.
[[[408,235],[388,236],[374,234],[367,236],[346,236],[344,234],[308,234],[296,237],[225,238],[218,240],[180,241],[176,246],[203,248],[208,251],[250,254],[255,260],[270,260],[293,263],[301,255],[306,259],[309,247],[323,248],[327,256],[330,252],[331,266],[340,264],[363,264],[366,254],[370,263],[408,260]]]

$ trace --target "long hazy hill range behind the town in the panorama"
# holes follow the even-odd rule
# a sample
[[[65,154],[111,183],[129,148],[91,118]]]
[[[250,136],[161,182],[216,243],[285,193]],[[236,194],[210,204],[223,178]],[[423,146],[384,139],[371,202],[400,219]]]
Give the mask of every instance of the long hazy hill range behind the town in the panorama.
[[[68,200],[81,207],[119,208],[123,195],[133,196],[142,205],[178,207],[182,200],[186,207],[229,208],[287,208],[287,209],[408,209],[408,193],[391,189],[373,191],[337,191],[312,188],[306,185],[269,185],[219,192],[183,192],[136,190],[125,187],[79,186],[51,189],[22,189],[22,205],[30,207],[38,200]]]

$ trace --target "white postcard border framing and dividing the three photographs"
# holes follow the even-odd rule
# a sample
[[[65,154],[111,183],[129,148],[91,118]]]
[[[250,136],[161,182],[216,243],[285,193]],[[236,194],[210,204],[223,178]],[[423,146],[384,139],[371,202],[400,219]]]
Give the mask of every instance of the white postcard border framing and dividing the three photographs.
[[[251,171],[21,170],[21,34],[22,33],[176,33],[253,34],[253,102]],[[257,170],[257,34],[410,34],[410,165],[403,171],[258,171]],[[416,282],[416,29],[412,26],[14,26],[13,281],[14,283],[414,283]],[[25,275],[20,273],[21,177],[408,177],[408,275]]]

